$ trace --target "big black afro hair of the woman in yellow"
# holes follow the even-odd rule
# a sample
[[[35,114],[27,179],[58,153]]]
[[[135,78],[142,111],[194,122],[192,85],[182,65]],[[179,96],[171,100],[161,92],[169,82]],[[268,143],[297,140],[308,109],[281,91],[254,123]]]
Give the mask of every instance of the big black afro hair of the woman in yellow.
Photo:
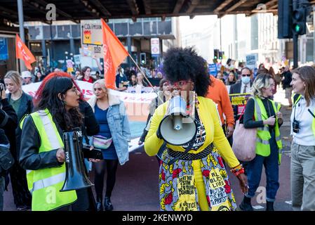
[[[192,48],[172,48],[163,58],[163,71],[170,82],[191,79],[198,96],[206,96],[210,77],[207,62]]]

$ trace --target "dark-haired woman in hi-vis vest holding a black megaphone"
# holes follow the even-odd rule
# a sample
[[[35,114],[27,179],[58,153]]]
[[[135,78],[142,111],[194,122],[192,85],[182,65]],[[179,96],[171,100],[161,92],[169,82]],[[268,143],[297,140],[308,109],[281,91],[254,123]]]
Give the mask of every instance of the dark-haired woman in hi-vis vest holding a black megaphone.
[[[83,124],[80,92],[69,77],[53,77],[41,87],[36,112],[20,123],[20,165],[27,169],[32,210],[90,210],[93,203],[88,188],[60,192],[66,173],[62,131]]]

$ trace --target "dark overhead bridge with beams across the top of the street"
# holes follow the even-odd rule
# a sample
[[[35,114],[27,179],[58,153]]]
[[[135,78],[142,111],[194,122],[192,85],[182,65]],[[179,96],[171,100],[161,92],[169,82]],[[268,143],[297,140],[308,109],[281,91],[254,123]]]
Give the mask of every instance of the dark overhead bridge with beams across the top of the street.
[[[277,0],[23,0],[25,21],[51,23],[47,13],[55,6],[55,20],[171,17],[245,13],[277,13]],[[18,1],[1,0],[0,22],[18,23]]]

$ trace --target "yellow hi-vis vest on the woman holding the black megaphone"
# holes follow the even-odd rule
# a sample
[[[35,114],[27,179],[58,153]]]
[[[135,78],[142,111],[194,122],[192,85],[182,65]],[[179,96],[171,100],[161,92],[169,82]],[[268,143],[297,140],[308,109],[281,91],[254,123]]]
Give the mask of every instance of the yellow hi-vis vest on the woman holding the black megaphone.
[[[41,139],[39,154],[64,147],[48,109],[39,110],[31,116]],[[23,122],[24,119],[20,122],[21,129]],[[65,173],[65,163],[61,167],[27,170],[27,185],[32,193],[32,211],[55,210],[76,201],[76,191],[60,192],[65,182]]]

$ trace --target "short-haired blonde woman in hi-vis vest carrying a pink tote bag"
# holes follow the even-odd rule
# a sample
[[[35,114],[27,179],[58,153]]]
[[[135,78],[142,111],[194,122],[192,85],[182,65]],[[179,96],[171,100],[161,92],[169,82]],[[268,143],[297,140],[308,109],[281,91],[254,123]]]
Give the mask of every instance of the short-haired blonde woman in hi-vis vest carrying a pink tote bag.
[[[239,205],[243,211],[253,211],[250,200],[260,184],[262,165],[267,177],[266,210],[274,211],[282,149],[279,127],[283,124],[283,116],[279,112],[281,105],[270,99],[274,85],[274,79],[270,75],[257,75],[252,86],[253,97],[248,100],[244,113],[244,127],[257,128],[257,138],[256,157],[246,165],[249,190]]]

